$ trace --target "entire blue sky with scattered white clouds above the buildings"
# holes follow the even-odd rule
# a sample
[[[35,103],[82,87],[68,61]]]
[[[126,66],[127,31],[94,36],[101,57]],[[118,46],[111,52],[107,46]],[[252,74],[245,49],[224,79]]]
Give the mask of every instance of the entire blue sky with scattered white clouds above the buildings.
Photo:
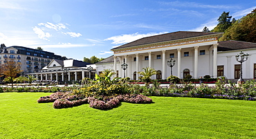
[[[0,44],[105,58],[141,37],[211,30],[223,11],[239,19],[255,8],[251,0],[0,0]]]

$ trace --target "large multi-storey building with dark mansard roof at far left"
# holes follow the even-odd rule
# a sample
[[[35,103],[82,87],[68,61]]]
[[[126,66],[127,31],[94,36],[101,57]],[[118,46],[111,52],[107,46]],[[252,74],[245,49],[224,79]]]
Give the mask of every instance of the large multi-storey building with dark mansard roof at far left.
[[[0,49],[0,64],[5,62],[6,59],[13,59],[15,62],[20,62],[21,69],[24,73],[34,73],[48,65],[52,59],[64,60],[66,58],[45,50],[23,46],[10,46]]]

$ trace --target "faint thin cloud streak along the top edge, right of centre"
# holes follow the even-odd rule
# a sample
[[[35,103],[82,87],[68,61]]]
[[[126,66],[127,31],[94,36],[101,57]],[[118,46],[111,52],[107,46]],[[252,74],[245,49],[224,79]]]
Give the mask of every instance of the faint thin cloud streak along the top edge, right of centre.
[[[165,6],[184,7],[184,8],[215,8],[215,9],[239,8],[238,6],[208,5],[208,4],[188,2],[188,1],[160,2],[160,4]]]

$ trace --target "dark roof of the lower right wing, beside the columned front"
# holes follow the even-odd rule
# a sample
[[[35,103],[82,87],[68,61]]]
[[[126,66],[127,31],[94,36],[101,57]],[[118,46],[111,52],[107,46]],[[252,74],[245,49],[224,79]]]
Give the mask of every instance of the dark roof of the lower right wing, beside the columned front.
[[[246,41],[219,41],[218,51],[256,48],[256,43]]]

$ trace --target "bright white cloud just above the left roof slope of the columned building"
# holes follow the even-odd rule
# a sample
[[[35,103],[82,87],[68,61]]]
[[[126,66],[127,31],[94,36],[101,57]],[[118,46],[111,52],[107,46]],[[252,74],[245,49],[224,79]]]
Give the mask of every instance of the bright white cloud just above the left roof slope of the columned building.
[[[167,32],[163,32],[163,33],[147,33],[147,34],[138,34],[138,33],[134,33],[131,35],[119,35],[119,36],[113,36],[113,37],[109,37],[107,39],[104,39],[104,41],[113,41],[111,44],[125,44],[125,43],[129,43],[131,41],[135,41],[137,39],[141,39],[143,37],[149,37],[149,36],[154,36],[154,35],[161,35]]]

